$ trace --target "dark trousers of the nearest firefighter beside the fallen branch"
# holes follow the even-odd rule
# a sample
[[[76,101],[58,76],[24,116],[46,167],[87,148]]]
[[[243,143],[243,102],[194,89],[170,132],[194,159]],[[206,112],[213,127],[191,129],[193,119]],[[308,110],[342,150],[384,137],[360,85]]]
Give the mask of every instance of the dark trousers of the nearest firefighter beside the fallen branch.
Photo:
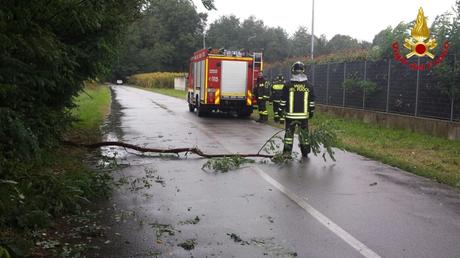
[[[284,134],[284,149],[283,153],[292,152],[292,144],[294,143],[294,132],[296,127],[299,130],[299,145],[302,155],[306,156],[310,152],[310,143],[308,139],[308,119],[289,119],[286,118]]]

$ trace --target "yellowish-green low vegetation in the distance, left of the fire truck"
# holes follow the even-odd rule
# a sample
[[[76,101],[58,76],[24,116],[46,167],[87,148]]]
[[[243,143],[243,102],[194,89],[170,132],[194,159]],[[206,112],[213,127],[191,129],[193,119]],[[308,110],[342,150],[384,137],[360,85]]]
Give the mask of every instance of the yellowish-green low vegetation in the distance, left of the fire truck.
[[[130,76],[128,82],[144,88],[174,88],[174,78],[184,73],[141,73]]]

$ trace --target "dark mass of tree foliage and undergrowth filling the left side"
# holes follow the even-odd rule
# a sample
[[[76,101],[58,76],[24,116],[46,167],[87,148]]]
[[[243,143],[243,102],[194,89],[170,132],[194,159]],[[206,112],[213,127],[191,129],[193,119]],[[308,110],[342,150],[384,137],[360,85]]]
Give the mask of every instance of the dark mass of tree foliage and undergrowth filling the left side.
[[[59,162],[69,151],[51,150],[73,121],[69,110],[83,82],[108,72],[120,31],[142,4],[2,1],[0,227],[41,226],[78,208],[101,182],[81,164],[83,154],[67,167]]]

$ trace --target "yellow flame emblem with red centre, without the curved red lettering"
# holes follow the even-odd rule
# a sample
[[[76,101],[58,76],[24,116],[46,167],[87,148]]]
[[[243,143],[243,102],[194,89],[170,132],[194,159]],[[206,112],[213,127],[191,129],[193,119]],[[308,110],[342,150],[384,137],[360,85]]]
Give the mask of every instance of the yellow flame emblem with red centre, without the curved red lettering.
[[[436,39],[430,38],[430,31],[426,25],[425,14],[423,13],[422,7],[420,7],[417,20],[411,31],[411,37],[404,41],[404,47],[411,51],[406,55],[406,58],[411,58],[416,55],[419,57],[429,56],[433,59],[434,55],[430,50],[433,50],[436,46]]]

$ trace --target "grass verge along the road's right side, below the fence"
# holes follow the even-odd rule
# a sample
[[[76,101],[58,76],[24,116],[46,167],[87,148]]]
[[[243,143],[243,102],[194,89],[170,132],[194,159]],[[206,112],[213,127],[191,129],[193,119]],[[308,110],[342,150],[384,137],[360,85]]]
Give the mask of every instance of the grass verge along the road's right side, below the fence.
[[[147,89],[172,97],[183,98],[185,91]],[[186,107],[184,107],[186,108]],[[273,108],[268,105],[269,122],[274,127],[283,125],[273,121]],[[257,110],[251,115],[257,119]],[[405,129],[385,128],[359,120],[343,119],[317,113],[311,126],[329,121],[336,129],[339,146],[382,163],[401,168],[437,182],[460,188],[460,141],[452,141]]]

